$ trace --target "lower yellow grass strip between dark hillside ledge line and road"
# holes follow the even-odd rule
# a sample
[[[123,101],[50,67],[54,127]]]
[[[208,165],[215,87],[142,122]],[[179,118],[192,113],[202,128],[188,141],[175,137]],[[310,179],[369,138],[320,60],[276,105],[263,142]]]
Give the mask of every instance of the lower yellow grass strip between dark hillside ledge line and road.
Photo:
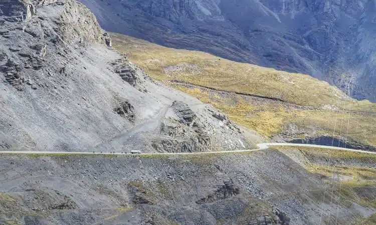
[[[199,97],[203,102],[213,104],[235,122],[266,136],[286,130],[286,126],[291,123],[306,130],[315,127],[317,128],[316,135],[333,135],[336,124],[334,135],[340,137],[348,133],[349,140],[376,145],[376,116],[331,110],[288,109],[283,104],[251,102],[241,97],[236,103],[232,103],[232,99],[211,95],[199,88],[185,86],[177,88]]]

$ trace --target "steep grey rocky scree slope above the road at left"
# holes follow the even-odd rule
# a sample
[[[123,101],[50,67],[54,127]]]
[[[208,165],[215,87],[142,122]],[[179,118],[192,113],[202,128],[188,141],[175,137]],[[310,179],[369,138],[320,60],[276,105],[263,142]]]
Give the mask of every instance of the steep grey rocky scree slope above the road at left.
[[[111,49],[82,3],[3,0],[0,8],[0,149],[189,152],[258,138],[153,82]]]

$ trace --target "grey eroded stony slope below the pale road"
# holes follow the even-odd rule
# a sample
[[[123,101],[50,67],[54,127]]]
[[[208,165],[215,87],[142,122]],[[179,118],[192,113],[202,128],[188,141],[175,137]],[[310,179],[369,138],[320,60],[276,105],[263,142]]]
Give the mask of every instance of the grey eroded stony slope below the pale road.
[[[140,157],[3,155],[0,222],[317,224],[321,217],[325,223],[362,224],[376,212],[372,155],[336,157],[342,163],[339,192],[337,176],[333,188],[330,170],[325,170],[330,164],[323,155],[330,152],[283,151],[293,159],[278,150]]]

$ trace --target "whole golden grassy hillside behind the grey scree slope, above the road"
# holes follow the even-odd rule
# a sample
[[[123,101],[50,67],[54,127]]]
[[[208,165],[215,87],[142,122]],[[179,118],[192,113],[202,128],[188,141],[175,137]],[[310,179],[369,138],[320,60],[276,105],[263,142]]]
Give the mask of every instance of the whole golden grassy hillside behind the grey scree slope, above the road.
[[[211,103],[234,121],[271,137],[345,136],[376,146],[376,104],[348,97],[309,75],[234,62],[112,34],[113,45],[154,79]],[[351,86],[348,74],[344,85]],[[348,112],[351,108],[351,112]]]

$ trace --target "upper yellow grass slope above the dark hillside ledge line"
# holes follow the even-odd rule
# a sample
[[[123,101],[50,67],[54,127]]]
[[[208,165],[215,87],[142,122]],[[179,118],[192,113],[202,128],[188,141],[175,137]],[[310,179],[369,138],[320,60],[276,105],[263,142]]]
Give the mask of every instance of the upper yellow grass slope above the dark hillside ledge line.
[[[200,51],[167,48],[133,37],[112,34],[113,46],[158,80],[180,79],[227,91],[281,98],[302,105],[337,105],[343,92],[306,74],[289,73],[249,63],[235,62]],[[179,63],[179,70],[165,69]],[[343,74],[348,76],[348,74]],[[350,101],[346,102],[349,103]],[[354,101],[353,108],[376,111],[369,101]]]

